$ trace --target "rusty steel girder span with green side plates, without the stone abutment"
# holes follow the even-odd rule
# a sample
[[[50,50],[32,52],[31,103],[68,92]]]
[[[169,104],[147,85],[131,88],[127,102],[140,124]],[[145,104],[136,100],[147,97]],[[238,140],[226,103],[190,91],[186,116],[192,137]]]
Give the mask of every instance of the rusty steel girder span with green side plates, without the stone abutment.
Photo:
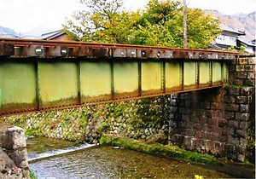
[[[236,55],[0,38],[0,116],[223,86]]]

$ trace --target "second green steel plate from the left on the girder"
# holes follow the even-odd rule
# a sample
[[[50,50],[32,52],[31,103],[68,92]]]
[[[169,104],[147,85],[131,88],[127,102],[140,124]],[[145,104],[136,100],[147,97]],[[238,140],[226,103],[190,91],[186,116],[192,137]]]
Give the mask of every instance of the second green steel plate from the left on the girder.
[[[40,106],[78,103],[78,69],[75,62],[38,62]]]

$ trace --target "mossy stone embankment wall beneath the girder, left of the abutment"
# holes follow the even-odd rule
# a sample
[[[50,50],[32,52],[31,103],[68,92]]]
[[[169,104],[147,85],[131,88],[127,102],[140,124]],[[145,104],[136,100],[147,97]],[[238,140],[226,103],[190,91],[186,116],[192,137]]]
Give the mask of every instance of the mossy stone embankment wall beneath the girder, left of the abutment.
[[[177,153],[178,149],[173,146],[173,148],[169,147],[174,152],[169,151],[163,154],[165,148],[168,147],[164,144],[168,144],[169,140],[170,115],[170,99],[165,96],[28,113],[3,117],[0,118],[0,121],[20,126],[25,130],[27,136],[44,136],[96,144],[101,141],[102,134],[111,134],[112,136],[124,136],[127,141],[128,139],[143,141],[147,145],[142,148],[146,148],[148,151],[152,150],[153,154],[159,153],[163,157],[170,155],[172,158],[189,159],[185,161],[188,163],[207,164],[212,161],[213,156],[211,155],[209,156],[212,158],[209,158],[208,161],[204,157],[197,157],[197,154],[195,155],[193,152],[180,150]],[[148,148],[152,147],[152,143],[164,146],[164,149],[155,149],[154,145],[153,148]],[[125,146],[125,144],[121,144]],[[119,144],[116,143],[116,145]],[[223,165],[227,164],[228,159],[224,160],[226,161],[223,162]],[[239,166],[243,168],[245,165],[240,163]]]

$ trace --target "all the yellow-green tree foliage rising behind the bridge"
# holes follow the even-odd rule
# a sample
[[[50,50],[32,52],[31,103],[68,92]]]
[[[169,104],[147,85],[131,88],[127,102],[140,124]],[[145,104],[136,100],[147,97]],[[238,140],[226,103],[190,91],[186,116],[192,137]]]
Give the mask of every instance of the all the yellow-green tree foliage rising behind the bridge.
[[[183,4],[149,0],[142,11],[126,12],[122,0],[80,0],[85,8],[63,25],[68,38],[102,43],[183,47]],[[206,49],[219,21],[201,9],[188,9],[189,48]]]

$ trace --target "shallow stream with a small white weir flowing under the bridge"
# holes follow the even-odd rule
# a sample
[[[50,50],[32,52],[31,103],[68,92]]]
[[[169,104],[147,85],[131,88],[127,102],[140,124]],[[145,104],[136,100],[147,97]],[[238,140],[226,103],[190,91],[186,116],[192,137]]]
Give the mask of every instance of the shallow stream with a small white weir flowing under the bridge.
[[[44,137],[27,139],[29,168],[39,179],[234,178],[215,170],[123,147],[92,146]]]

